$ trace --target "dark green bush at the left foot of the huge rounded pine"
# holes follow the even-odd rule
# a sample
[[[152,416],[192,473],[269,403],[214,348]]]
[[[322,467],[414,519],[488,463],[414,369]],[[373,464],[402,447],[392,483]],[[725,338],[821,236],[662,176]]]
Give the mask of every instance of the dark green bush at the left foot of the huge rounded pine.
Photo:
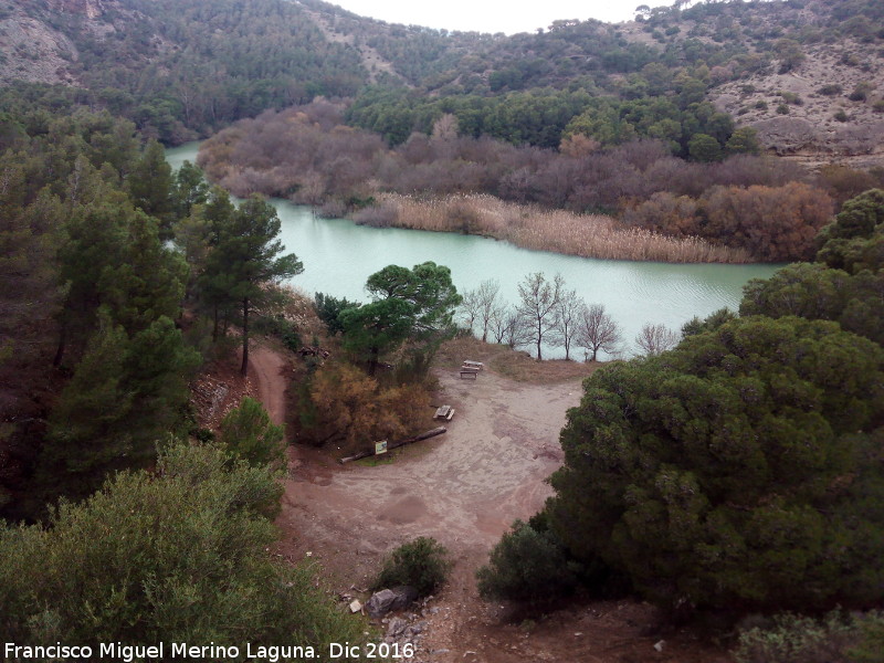
[[[549,603],[573,592],[577,567],[549,532],[516,520],[504,534],[486,566],[476,571],[484,599]]]

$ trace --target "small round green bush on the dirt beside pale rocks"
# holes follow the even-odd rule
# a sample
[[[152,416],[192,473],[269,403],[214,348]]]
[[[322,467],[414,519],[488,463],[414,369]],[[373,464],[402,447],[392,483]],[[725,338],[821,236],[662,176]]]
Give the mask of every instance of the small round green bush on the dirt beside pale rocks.
[[[434,538],[421,536],[402,544],[387,558],[371,589],[407,585],[425,597],[442,587],[448,579],[452,562],[449,551]]]

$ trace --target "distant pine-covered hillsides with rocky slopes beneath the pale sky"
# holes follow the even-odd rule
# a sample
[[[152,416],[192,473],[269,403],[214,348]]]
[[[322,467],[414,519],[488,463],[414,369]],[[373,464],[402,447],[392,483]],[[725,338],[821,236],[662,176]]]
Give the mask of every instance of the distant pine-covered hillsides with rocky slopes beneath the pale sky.
[[[393,143],[453,113],[464,135],[544,147],[575,131],[602,146],[653,137],[686,156],[697,134],[724,148],[733,127],[708,126],[724,112],[778,154],[867,167],[884,131],[872,0],[639,7],[630,23],[513,36],[387,24],[319,0],[41,0],[7,4],[0,29],[3,81],[84,86],[167,143],[316,95],[355,99],[350,122]]]

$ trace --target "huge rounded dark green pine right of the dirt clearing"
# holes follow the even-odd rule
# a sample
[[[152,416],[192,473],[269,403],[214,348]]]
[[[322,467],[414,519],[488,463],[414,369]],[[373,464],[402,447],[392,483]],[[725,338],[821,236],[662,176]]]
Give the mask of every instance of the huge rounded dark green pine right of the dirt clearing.
[[[881,492],[882,377],[881,347],[794,317],[606,367],[561,433],[550,527],[670,607],[878,601],[884,518],[856,497]]]

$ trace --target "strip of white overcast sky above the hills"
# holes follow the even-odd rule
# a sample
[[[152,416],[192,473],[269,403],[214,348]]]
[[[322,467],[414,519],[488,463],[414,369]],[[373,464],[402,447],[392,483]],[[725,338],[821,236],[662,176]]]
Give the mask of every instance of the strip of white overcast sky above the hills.
[[[362,17],[477,32],[534,32],[559,19],[598,19],[607,23],[631,20],[640,4],[672,4],[648,0],[329,0]]]

